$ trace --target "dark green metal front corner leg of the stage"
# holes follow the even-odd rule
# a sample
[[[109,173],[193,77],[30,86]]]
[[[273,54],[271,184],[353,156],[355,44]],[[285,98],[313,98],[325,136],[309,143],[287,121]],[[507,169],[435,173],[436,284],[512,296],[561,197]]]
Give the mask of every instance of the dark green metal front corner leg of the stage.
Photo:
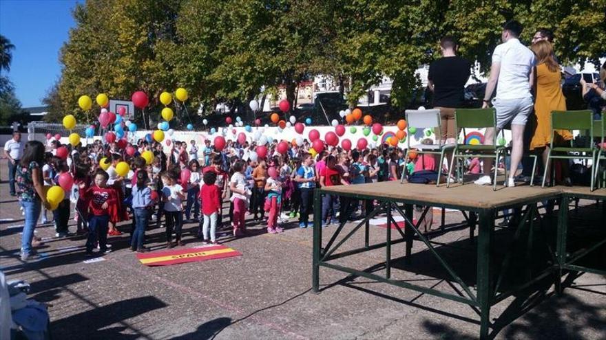
[[[480,304],[480,339],[488,339],[490,330],[490,306],[492,304],[492,274],[490,258],[492,233],[494,231],[494,209],[479,212],[477,245],[477,298]]]

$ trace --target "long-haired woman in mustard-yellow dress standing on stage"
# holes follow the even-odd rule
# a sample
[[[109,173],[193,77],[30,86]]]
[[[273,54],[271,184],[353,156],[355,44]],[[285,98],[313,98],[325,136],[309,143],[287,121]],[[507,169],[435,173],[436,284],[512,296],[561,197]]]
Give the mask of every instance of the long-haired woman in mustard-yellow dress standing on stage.
[[[534,74],[536,76],[534,115],[536,115],[536,129],[532,140],[530,141],[530,150],[543,153],[543,166],[547,166],[547,178],[545,183],[550,183],[551,169],[547,163],[547,153],[549,152],[550,142],[552,140],[551,131],[551,112],[565,111],[566,99],[561,88],[560,65],[554,58],[554,49],[548,41],[538,41],[530,47],[536,55],[537,66]],[[562,144],[563,141],[570,141],[572,133],[567,130],[558,130],[555,133],[554,144]],[[568,166],[563,163],[563,177],[568,179]]]

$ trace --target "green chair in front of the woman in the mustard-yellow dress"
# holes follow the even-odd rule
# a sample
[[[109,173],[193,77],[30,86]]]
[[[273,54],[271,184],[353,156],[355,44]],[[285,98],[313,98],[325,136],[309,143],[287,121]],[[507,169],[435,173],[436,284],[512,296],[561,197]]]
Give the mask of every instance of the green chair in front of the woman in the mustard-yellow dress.
[[[597,148],[594,146],[594,117],[590,110],[579,111],[552,111],[552,141],[550,142],[550,150],[547,152],[547,164],[552,159],[591,159],[596,161]],[[578,130],[589,131],[589,140],[591,141],[586,148],[575,148],[570,141],[570,146],[555,146],[554,138],[556,130]],[[553,155],[557,152],[557,155]],[[570,152],[578,152],[578,155],[570,155]],[[591,155],[589,155],[591,154]],[[544,165],[543,184],[545,188],[545,177],[547,177],[547,164]],[[596,167],[594,167],[596,168]],[[592,182],[590,190],[594,191],[594,170],[592,170]],[[552,177],[552,181],[554,178]]]

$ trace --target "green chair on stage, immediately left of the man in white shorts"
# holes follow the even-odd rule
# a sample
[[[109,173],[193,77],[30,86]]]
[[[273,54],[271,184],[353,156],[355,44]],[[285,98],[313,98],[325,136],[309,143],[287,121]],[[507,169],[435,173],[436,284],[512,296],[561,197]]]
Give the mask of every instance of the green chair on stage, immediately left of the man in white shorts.
[[[454,159],[461,159],[466,157],[483,157],[483,158],[494,158],[494,183],[492,190],[497,190],[497,168],[499,168],[499,159],[501,154],[505,157],[506,148],[505,146],[497,145],[497,111],[494,108],[490,109],[456,109],[454,111],[454,126],[456,131],[463,132],[463,136],[466,135],[466,128],[494,128],[494,134],[492,135],[492,145],[471,145],[454,144],[454,152],[452,153],[452,159],[450,160],[450,168],[448,169],[448,176],[452,174],[452,168],[454,166]],[[459,132],[460,133],[460,132]],[[458,135],[457,135],[458,137]],[[459,182],[463,183],[463,171],[457,171]],[[507,169],[505,168],[505,178],[507,178]],[[450,187],[450,181],[447,187]]]

